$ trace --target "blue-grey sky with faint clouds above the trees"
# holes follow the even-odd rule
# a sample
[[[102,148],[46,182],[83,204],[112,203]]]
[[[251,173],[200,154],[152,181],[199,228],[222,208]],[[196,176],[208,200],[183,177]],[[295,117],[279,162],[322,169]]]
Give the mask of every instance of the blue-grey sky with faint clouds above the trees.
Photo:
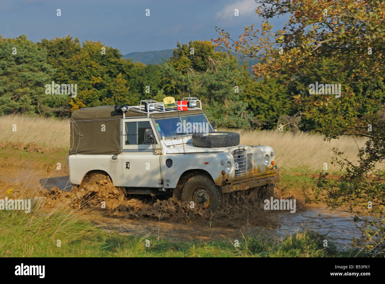
[[[71,34],[126,54],[175,48],[177,41],[210,40],[218,37],[216,26],[236,38],[245,25],[260,25],[256,7],[254,0],[0,0],[0,34],[25,34],[34,42]],[[271,23],[281,27],[284,22]]]

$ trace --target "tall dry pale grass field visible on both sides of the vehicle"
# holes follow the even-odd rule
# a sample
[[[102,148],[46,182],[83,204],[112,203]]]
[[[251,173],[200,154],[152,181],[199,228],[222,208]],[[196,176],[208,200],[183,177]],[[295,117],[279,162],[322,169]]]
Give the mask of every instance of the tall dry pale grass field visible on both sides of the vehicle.
[[[13,125],[17,131],[13,132]],[[225,130],[225,129],[222,129]],[[43,147],[69,147],[69,119],[28,117],[23,115],[0,116],[0,141],[37,142]],[[365,145],[366,139],[341,137],[331,142],[323,140],[319,134],[275,131],[228,130],[241,134],[241,144],[269,145],[274,148],[276,164],[287,171],[320,172],[323,164],[328,171],[337,174],[338,165],[332,165],[333,147],[340,149],[351,161],[357,160],[358,147]],[[380,166],[381,169],[385,165]]]

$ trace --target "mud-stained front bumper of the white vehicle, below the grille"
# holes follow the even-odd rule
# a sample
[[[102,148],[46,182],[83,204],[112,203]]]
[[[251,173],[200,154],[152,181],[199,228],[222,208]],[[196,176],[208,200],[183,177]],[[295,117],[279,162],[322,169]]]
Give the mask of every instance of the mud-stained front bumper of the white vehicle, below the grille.
[[[260,174],[245,175],[226,180],[226,185],[221,186],[223,193],[246,190],[266,184],[275,184],[281,181],[280,169],[269,170]]]

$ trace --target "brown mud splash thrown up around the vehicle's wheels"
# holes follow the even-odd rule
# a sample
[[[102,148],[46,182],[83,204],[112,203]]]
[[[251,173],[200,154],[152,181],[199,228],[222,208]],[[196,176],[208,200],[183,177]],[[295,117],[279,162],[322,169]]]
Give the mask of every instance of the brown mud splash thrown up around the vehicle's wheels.
[[[126,197],[123,187],[115,187],[109,179],[100,177],[91,177],[90,182],[73,187],[72,191],[52,187],[50,191],[41,191],[40,194],[49,200],[45,207],[68,204],[69,208],[91,209],[105,217],[229,228],[264,226],[274,222],[271,215],[263,210],[263,203],[248,200],[244,195],[225,195],[225,205],[211,212],[197,205],[191,207],[189,202],[172,197],[156,200]]]

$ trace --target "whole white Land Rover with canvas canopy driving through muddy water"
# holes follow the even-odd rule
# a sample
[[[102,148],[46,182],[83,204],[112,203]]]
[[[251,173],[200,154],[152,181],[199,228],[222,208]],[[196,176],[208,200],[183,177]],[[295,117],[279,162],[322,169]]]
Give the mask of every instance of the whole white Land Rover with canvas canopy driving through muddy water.
[[[183,110],[179,102],[165,107],[147,100],[73,112],[70,182],[79,185],[102,172],[127,194],[173,194],[215,210],[223,194],[256,195],[281,180],[273,148],[238,145],[238,134],[209,124],[198,99],[183,102]]]

